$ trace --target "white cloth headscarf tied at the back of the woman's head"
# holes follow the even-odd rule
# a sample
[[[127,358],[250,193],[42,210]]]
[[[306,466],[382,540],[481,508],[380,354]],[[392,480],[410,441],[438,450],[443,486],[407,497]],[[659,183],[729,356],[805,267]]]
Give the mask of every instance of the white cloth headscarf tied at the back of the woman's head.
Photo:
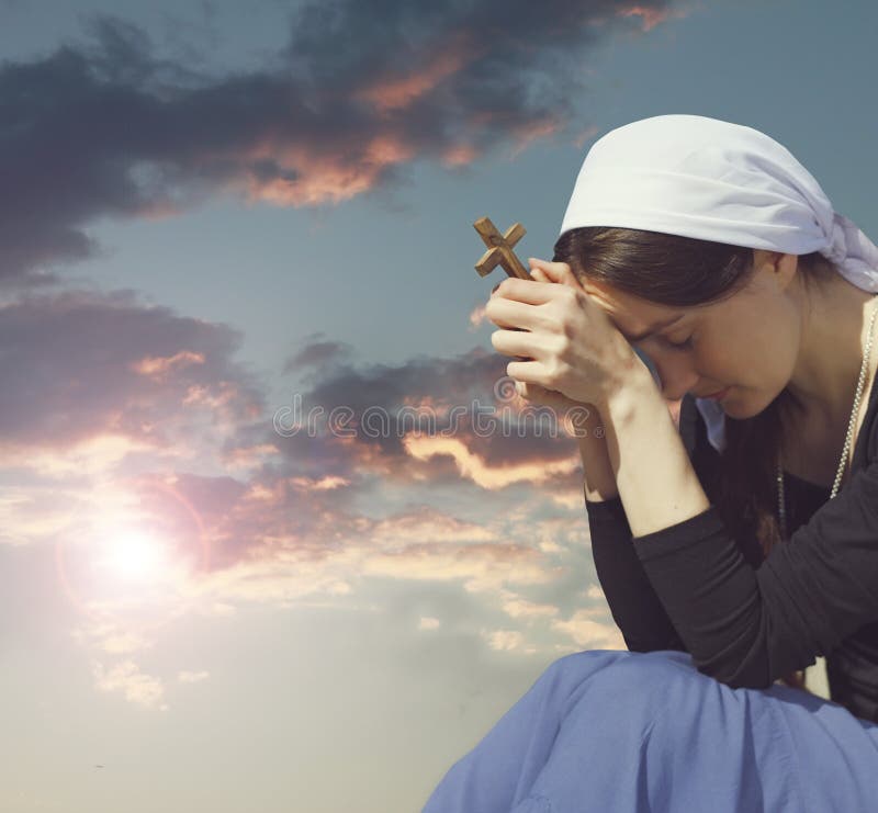
[[[642,118],[585,156],[559,236],[618,226],[807,255],[819,251],[853,285],[878,292],[878,248],[837,214],[786,147],[752,127],[700,115]],[[714,449],[725,414],[695,399]]]

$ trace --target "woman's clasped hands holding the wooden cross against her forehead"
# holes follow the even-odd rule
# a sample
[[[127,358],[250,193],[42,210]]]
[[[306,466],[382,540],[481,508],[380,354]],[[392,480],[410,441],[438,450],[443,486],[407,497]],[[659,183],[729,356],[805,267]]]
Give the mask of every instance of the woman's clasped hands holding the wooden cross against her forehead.
[[[506,374],[521,382],[516,388],[525,397],[536,385],[581,404],[604,404],[643,363],[567,263],[530,264],[532,280],[504,280],[485,306],[500,328],[491,335],[494,349],[526,359],[510,361]]]

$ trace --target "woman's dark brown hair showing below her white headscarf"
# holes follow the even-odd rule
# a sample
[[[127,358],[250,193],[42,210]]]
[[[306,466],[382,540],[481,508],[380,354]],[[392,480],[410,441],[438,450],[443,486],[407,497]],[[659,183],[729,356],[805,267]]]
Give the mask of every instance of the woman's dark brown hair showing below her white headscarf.
[[[605,226],[565,232],[554,245],[553,260],[566,262],[583,283],[604,283],[669,307],[722,302],[746,287],[755,272],[752,248]],[[817,251],[801,255],[798,264],[806,286],[835,273]],[[793,405],[785,388],[752,418],[725,416],[727,445],[720,455],[718,493],[708,495],[735,539],[755,533],[763,556],[781,541],[776,466],[781,414]],[[789,673],[781,680],[806,688],[803,671]]]

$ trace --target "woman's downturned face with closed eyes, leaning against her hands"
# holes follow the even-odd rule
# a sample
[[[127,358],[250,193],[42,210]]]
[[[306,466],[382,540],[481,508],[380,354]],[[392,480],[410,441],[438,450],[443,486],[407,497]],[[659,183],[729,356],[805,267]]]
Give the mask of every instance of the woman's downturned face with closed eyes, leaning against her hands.
[[[762,250],[754,250],[754,257],[750,284],[712,305],[668,307],[587,279],[583,286],[649,358],[665,399],[678,400],[687,393],[703,397],[729,387],[719,402],[723,410],[747,418],[787,385],[800,338],[798,308],[788,289],[797,257]]]

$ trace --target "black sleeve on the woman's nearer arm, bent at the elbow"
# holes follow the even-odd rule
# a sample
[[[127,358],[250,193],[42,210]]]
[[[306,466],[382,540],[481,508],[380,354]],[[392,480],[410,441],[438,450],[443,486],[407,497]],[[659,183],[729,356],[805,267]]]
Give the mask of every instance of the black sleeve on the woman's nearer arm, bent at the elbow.
[[[698,669],[735,688],[767,688],[878,620],[878,462],[758,568],[714,505],[632,543]]]

